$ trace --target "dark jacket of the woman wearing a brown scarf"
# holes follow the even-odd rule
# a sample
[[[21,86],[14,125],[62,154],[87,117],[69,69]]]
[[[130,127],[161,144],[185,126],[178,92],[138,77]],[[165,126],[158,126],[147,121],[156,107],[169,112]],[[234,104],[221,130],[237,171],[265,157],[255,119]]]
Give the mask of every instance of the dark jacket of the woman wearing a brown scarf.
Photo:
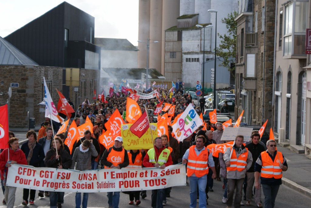
[[[26,159],[29,155],[29,147],[28,147],[28,141],[25,142],[24,144],[22,144],[21,146],[21,150],[25,153]],[[44,166],[44,159],[45,155],[44,155],[44,151],[43,151],[43,147],[38,144],[38,142],[36,141],[35,147],[33,149],[32,152],[32,157],[30,159],[29,165],[32,165],[34,167],[45,167]]]

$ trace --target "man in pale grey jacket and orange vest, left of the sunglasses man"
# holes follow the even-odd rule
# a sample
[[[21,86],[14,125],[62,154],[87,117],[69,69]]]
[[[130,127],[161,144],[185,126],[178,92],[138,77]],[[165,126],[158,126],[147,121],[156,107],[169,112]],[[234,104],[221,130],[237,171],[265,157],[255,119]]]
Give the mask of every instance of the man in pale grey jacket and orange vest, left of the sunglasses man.
[[[243,140],[243,135],[237,135],[235,137],[234,146],[228,147],[224,153],[228,178],[228,200],[226,202],[227,208],[232,206],[234,189],[236,189],[234,207],[241,207],[242,187],[245,173],[253,163],[252,153],[250,153],[247,148],[244,147]]]

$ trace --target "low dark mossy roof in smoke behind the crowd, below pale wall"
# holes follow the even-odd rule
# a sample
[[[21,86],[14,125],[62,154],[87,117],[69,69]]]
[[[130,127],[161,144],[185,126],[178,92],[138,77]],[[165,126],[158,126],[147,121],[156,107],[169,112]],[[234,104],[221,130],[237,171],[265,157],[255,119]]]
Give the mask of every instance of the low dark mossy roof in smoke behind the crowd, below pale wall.
[[[105,78],[141,79],[142,73],[146,73],[146,68],[102,68],[101,71]],[[150,79],[165,79],[156,69],[149,69],[148,72]]]

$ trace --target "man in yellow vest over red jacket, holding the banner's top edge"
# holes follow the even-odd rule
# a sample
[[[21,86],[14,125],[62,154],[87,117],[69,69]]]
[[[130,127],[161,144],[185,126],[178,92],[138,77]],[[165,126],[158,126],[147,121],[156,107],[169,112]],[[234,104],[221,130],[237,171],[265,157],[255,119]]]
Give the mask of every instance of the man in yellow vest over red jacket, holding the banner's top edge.
[[[155,146],[148,150],[143,160],[145,167],[156,167],[164,169],[165,167],[172,165],[172,157],[170,151],[163,145],[162,138],[156,137],[154,140]],[[152,208],[163,208],[163,196],[165,194],[165,188],[152,190],[151,193],[151,206]]]

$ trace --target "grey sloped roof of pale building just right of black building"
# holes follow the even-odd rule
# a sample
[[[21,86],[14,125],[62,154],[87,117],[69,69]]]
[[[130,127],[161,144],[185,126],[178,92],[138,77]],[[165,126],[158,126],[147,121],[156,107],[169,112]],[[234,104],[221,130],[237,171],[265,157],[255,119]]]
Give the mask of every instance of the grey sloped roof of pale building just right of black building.
[[[137,51],[137,48],[127,39],[95,38],[94,43],[103,50]]]

